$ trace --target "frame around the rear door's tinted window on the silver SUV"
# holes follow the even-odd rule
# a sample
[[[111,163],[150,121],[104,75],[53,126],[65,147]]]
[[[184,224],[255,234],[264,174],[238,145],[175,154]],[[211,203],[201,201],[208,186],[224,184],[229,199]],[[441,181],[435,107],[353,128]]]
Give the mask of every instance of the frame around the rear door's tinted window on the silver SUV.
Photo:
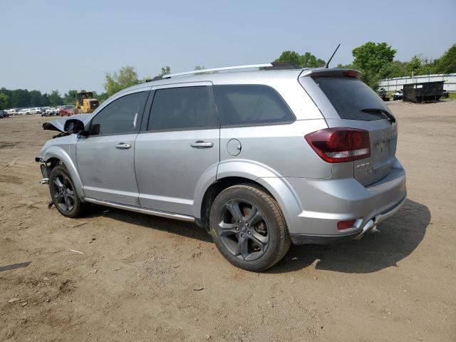
[[[147,130],[150,120],[152,118],[152,105],[153,101],[155,100],[155,94],[157,90],[165,90],[165,89],[176,89],[176,88],[195,88],[195,87],[207,87],[207,92],[209,94],[209,103],[211,106],[211,110],[213,111],[214,115],[217,117],[218,125],[215,126],[204,126],[204,127],[192,127],[192,128],[172,128],[172,129],[162,129],[162,130]],[[189,131],[189,130],[219,130],[220,129],[220,118],[217,113],[217,107],[215,105],[215,98],[214,98],[214,90],[212,86],[212,82],[203,81],[203,82],[187,82],[187,83],[175,83],[175,84],[167,84],[163,86],[159,86],[157,88],[152,88],[151,92],[153,93],[150,96],[151,100],[148,103],[147,108],[145,109],[145,113],[147,115],[147,120],[145,121],[145,125],[141,126],[140,134],[142,133],[162,133],[162,132],[182,132],[182,131]]]

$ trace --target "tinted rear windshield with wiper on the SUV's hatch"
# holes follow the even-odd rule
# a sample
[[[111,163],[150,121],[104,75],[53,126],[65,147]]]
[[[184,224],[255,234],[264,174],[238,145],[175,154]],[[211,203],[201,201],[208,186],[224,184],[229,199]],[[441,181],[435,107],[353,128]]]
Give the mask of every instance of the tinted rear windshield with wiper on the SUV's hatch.
[[[381,120],[382,113],[366,113],[363,110],[376,108],[390,111],[383,100],[366,83],[351,77],[314,77],[326,98],[336,109],[341,119]]]

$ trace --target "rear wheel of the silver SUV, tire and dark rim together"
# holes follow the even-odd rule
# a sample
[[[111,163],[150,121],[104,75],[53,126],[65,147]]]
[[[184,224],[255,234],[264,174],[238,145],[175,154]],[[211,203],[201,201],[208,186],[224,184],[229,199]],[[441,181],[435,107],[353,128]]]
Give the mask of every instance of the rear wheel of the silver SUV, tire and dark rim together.
[[[220,192],[212,203],[209,227],[225,259],[247,271],[274,266],[291,244],[279,204],[257,185],[234,185]]]

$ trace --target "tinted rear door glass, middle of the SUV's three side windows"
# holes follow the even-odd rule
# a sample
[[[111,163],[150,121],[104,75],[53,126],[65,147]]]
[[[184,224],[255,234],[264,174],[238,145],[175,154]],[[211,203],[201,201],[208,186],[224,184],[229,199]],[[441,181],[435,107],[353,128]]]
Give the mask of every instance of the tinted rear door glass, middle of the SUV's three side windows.
[[[218,128],[210,91],[209,86],[155,90],[147,130]]]

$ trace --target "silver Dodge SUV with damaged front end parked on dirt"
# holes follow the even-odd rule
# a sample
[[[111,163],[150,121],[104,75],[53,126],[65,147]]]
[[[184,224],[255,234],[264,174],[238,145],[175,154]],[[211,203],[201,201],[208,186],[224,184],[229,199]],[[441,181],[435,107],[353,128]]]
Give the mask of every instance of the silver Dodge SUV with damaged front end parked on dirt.
[[[363,237],[405,202],[394,116],[358,71],[276,68],[159,76],[43,124],[53,204],[195,222],[251,271]]]

